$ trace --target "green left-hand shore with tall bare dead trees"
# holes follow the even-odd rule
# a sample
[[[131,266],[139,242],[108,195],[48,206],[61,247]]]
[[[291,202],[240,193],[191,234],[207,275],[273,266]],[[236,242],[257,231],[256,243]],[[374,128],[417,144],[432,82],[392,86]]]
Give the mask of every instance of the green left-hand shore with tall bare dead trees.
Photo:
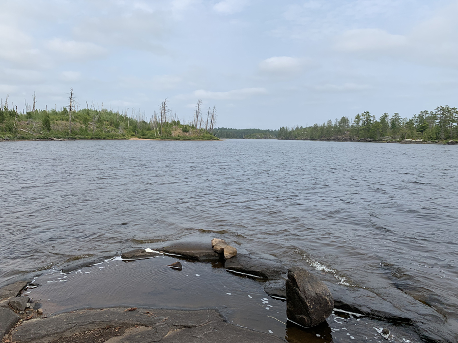
[[[37,109],[25,101],[26,110],[1,100],[0,140],[80,140],[80,139],[145,139],[145,140],[219,140],[214,135],[216,106],[204,110],[202,100],[196,104],[194,118],[187,123],[178,119],[165,99],[147,121],[145,112],[129,109],[114,111],[98,104],[79,109],[73,89],[69,105],[59,110]]]

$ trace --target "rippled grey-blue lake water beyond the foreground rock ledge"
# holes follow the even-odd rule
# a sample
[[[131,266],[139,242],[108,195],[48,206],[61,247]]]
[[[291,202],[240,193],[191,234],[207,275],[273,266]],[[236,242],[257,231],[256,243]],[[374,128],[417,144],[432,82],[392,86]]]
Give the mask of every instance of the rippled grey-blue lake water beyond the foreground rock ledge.
[[[403,290],[456,320],[457,185],[447,145],[3,142],[0,283],[75,255],[211,236],[384,298]]]

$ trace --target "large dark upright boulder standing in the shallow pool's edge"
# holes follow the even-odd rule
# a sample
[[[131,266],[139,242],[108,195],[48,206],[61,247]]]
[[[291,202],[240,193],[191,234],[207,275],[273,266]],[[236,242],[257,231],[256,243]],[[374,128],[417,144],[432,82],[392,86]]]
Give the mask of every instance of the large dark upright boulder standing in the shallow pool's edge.
[[[304,327],[323,323],[334,308],[328,287],[301,267],[288,270],[286,295],[288,319]]]

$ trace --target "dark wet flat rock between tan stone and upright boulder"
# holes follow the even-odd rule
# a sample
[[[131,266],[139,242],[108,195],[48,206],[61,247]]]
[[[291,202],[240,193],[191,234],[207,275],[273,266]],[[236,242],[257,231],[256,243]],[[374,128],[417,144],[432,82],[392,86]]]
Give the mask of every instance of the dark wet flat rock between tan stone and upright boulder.
[[[242,254],[226,260],[224,267],[228,271],[235,271],[265,279],[278,279],[288,272],[280,263],[259,258],[250,258],[248,255]]]

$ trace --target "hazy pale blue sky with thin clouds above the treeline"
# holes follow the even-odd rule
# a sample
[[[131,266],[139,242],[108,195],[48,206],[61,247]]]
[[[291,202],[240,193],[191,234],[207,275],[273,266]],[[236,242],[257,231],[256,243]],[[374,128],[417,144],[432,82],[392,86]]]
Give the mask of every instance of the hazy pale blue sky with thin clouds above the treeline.
[[[278,129],[458,106],[458,0],[1,0],[0,97]]]

